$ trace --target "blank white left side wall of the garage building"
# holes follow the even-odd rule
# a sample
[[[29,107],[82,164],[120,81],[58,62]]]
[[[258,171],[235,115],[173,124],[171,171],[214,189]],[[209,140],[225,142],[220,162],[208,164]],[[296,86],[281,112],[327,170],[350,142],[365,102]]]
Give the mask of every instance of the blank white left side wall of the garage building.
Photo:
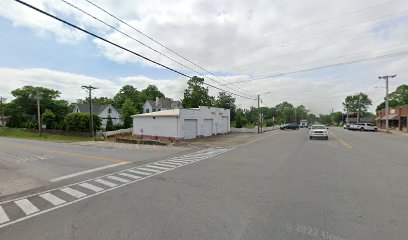
[[[178,138],[177,125],[177,117],[134,117],[133,135]]]

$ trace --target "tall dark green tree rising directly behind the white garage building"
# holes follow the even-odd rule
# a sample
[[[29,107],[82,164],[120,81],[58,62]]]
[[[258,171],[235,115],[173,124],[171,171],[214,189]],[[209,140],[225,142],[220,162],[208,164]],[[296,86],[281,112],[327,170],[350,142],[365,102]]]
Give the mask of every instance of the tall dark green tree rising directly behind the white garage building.
[[[197,108],[199,106],[212,106],[214,97],[208,94],[208,88],[204,87],[204,78],[192,77],[187,82],[184,90],[182,105],[185,108]]]

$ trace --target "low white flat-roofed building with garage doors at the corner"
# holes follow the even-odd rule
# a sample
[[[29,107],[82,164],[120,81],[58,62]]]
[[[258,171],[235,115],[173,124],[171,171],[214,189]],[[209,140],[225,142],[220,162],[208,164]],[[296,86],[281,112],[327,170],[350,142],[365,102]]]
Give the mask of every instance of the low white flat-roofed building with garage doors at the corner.
[[[132,117],[136,137],[180,141],[230,132],[230,110],[223,108],[200,106]]]

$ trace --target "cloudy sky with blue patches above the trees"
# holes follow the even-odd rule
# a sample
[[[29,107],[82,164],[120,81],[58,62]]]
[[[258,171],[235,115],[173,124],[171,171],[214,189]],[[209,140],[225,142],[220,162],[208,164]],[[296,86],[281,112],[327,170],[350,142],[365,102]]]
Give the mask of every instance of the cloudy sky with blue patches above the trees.
[[[398,75],[391,91],[408,79],[404,0],[91,1],[133,29],[86,0],[64,1],[26,0],[189,76],[205,75],[208,84],[242,96],[270,92],[262,96],[264,106],[289,101],[328,113],[361,91],[373,100],[373,110],[385,92],[379,75]],[[75,101],[85,97],[84,84],[108,97],[124,84],[155,84],[179,99],[188,80],[13,0],[0,2],[0,29],[0,95],[8,99],[11,90],[34,85]],[[324,67],[346,62],[353,64]],[[251,80],[256,78],[262,79]],[[237,96],[237,104],[256,101]]]

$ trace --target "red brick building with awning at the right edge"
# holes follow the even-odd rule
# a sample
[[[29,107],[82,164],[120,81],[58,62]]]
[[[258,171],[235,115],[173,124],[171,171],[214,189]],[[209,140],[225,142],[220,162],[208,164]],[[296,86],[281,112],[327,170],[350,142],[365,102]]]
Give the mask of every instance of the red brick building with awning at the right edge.
[[[408,132],[407,128],[408,105],[390,109],[388,113],[390,129]],[[385,129],[386,114],[385,109],[377,111],[376,124],[380,129]]]

